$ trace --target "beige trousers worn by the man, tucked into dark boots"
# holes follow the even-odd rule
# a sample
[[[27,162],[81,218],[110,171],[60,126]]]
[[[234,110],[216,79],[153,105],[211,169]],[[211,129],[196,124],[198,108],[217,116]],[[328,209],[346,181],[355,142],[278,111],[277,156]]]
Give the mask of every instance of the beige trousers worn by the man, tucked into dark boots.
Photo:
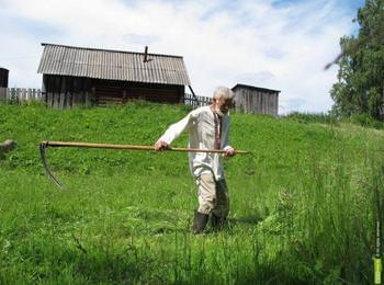
[[[227,217],[229,196],[225,180],[215,181],[212,173],[201,174],[196,179],[199,192],[199,208],[202,214],[213,213],[217,217]]]

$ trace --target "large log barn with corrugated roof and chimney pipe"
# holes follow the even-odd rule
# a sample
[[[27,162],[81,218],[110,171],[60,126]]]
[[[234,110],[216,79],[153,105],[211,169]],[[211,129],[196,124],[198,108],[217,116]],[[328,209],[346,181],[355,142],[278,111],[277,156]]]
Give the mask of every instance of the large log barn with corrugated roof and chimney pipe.
[[[122,104],[142,99],[180,103],[190,86],[180,56],[42,44],[38,73],[48,106]]]

